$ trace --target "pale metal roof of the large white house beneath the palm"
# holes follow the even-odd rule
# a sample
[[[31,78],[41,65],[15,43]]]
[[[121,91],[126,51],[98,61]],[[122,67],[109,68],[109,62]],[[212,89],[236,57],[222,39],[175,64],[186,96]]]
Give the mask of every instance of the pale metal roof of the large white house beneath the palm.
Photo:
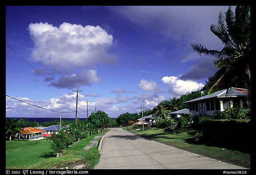
[[[219,90],[215,93],[211,93],[209,95],[204,95],[202,97],[190,100],[190,101],[186,101],[184,102],[184,104],[189,103],[189,102],[193,102],[193,101],[200,101],[200,100],[204,100],[204,99],[209,99],[209,98],[214,98],[214,97],[243,97],[246,96],[248,93],[247,89],[241,89],[241,88],[231,88],[230,91],[228,91],[227,93],[227,89],[223,89],[223,90]]]

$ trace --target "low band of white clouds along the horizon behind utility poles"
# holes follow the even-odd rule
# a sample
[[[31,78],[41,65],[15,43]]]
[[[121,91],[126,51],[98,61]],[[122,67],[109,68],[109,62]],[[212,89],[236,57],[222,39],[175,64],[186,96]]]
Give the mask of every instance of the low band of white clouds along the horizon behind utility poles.
[[[48,110],[59,112],[74,112],[76,110],[76,93],[65,93],[59,97],[44,100],[31,100],[26,97],[15,97],[18,100],[28,102]],[[78,116],[87,114],[87,98],[78,93]],[[135,96],[97,97],[88,104],[89,115],[96,110],[102,110],[109,117],[118,117],[122,113],[139,113],[141,111],[141,99],[144,109],[153,109],[158,103],[168,98],[164,95],[136,94]],[[74,113],[56,113],[35,106],[28,105],[13,98],[6,97],[6,117],[74,117]]]

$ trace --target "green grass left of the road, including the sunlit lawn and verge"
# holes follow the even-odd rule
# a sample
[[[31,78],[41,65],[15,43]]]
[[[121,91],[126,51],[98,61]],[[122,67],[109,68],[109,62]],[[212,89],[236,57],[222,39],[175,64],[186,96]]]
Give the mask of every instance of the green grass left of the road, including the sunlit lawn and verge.
[[[87,169],[93,169],[100,159],[98,145],[89,150],[84,150],[84,147],[95,136],[103,136],[106,132],[108,129],[72,144],[59,157],[51,149],[50,140],[6,141],[6,169],[52,169],[73,161],[83,161]]]

